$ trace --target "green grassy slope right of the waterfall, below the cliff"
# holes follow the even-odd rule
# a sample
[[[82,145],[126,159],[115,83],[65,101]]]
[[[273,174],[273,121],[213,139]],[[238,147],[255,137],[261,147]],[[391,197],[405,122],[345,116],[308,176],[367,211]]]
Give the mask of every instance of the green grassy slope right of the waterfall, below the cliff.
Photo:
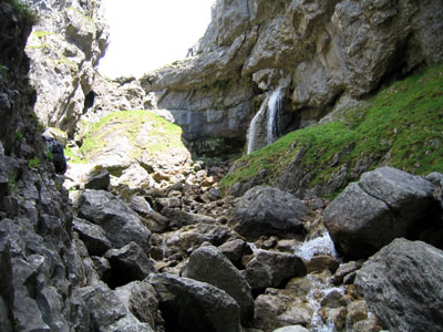
[[[327,183],[343,165],[353,169],[367,159],[369,169],[390,165],[418,175],[443,173],[443,65],[394,83],[348,108],[328,124],[299,129],[237,160],[222,180],[223,189],[266,170],[270,183],[296,157],[311,175],[310,187]],[[368,169],[368,170],[369,170]],[[348,180],[354,180],[348,173]]]

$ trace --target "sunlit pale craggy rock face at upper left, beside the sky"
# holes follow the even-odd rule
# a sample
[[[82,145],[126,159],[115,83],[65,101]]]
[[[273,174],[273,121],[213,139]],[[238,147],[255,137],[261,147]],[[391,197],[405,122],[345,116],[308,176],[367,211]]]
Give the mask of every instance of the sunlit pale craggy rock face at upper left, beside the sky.
[[[72,134],[87,110],[95,66],[107,46],[100,2],[28,2],[39,15],[27,45],[32,62],[30,77],[38,93],[35,112],[45,125]]]

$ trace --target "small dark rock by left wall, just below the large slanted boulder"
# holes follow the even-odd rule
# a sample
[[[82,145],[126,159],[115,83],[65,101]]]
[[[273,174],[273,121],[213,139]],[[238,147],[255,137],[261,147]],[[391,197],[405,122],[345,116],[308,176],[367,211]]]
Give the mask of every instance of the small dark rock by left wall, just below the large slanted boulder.
[[[80,239],[86,246],[90,256],[102,256],[111,249],[111,242],[100,226],[84,219],[74,218],[73,229],[79,234]]]

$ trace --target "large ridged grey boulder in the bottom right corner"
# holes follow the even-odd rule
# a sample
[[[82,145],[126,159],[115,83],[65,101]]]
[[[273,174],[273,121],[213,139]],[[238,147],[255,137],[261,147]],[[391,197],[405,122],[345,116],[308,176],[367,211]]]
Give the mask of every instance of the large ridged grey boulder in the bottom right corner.
[[[354,284],[390,331],[443,331],[442,250],[395,239],[363,264]]]

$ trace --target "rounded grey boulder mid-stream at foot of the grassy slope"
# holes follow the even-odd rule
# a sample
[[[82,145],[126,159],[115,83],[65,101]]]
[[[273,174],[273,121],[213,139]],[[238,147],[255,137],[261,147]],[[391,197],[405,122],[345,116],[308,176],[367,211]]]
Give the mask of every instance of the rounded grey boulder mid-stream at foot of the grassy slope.
[[[291,194],[271,187],[249,189],[237,203],[231,222],[248,240],[260,236],[295,237],[303,234],[308,207]]]

